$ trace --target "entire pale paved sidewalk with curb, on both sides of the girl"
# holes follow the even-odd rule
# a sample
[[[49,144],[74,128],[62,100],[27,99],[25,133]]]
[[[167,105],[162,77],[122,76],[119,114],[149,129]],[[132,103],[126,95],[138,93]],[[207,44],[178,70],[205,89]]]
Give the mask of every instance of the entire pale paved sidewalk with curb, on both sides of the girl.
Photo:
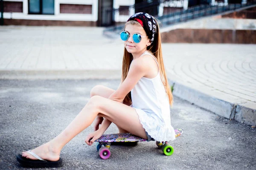
[[[119,79],[122,41],[93,27],[0,27],[0,78]],[[256,45],[163,44],[174,95],[256,124]]]

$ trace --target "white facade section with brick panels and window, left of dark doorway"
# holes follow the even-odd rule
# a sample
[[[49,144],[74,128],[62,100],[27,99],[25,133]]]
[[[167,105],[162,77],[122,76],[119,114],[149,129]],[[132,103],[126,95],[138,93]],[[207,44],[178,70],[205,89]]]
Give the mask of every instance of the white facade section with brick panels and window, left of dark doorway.
[[[4,0],[5,25],[96,26],[98,0]]]

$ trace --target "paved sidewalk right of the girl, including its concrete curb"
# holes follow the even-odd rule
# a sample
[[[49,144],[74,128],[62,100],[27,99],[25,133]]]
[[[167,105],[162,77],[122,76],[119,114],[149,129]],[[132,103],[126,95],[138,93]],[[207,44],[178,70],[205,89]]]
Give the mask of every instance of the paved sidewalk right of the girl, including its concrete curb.
[[[174,95],[256,125],[256,45],[163,44],[163,51]]]

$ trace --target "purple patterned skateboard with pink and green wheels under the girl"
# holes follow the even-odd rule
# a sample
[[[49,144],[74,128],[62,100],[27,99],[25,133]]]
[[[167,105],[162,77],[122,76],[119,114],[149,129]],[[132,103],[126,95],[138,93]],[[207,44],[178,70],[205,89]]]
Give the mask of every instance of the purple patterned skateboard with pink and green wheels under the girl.
[[[175,137],[180,136],[182,133],[183,133],[183,130],[175,129]],[[111,143],[143,142],[143,141],[147,141],[147,140],[139,136],[133,135],[131,133],[115,133],[115,134],[102,135],[95,142],[98,142],[98,144],[96,144],[97,146],[96,148],[99,152],[99,156],[102,159],[108,159],[111,156],[111,152],[110,152]],[[157,141],[156,144],[157,144],[157,147],[161,149],[166,156],[172,155],[174,149],[167,141],[163,141],[163,142]]]

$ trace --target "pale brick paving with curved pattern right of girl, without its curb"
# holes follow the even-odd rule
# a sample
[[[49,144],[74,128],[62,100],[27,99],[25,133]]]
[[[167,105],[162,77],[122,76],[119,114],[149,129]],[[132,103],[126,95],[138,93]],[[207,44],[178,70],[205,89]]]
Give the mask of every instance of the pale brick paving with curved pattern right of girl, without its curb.
[[[164,44],[169,73],[180,82],[256,105],[256,45]]]

